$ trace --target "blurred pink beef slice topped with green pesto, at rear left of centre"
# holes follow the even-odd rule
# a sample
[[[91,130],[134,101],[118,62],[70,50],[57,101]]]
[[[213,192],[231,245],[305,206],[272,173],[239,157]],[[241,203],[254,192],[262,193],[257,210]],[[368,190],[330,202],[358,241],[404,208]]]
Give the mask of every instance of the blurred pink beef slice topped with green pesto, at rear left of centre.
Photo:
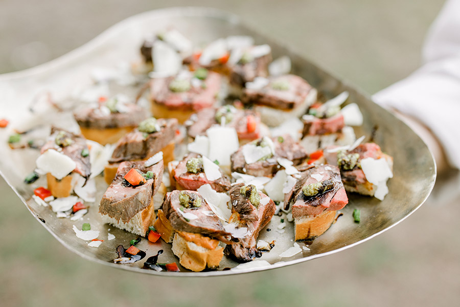
[[[173,82],[179,80],[177,78],[180,78],[181,84],[178,85],[183,86],[182,89],[173,87]],[[204,80],[192,75],[155,78],[150,83],[150,97],[155,103],[172,110],[199,111],[216,104],[221,86],[222,77],[214,72],[208,72]]]

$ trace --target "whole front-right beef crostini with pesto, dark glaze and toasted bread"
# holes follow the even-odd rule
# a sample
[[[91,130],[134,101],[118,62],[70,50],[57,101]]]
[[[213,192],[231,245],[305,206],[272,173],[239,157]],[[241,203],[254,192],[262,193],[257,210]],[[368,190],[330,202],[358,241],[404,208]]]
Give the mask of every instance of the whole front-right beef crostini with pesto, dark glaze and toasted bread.
[[[323,164],[301,172],[301,178],[285,194],[285,209],[291,204],[296,241],[323,234],[334,221],[336,211],[348,204],[338,167]]]

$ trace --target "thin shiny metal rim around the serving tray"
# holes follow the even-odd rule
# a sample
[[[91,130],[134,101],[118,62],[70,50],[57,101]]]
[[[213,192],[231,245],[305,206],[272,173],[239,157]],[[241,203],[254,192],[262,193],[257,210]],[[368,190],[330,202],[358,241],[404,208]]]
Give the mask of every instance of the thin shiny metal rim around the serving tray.
[[[234,13],[231,13],[231,12],[228,12],[228,11],[225,11],[225,10],[217,9],[217,8],[199,7],[199,6],[184,6],[184,7],[162,8],[162,9],[155,9],[155,10],[145,11],[145,12],[142,12],[142,13],[132,15],[132,16],[130,16],[128,18],[125,18],[125,19],[119,21],[118,23],[110,26],[109,28],[107,28],[106,30],[104,30],[103,32],[98,34],[96,37],[94,37],[93,39],[90,39],[89,41],[87,41],[86,43],[81,45],[80,47],[77,47],[77,48],[73,49],[72,51],[67,52],[67,53],[65,53],[65,54],[63,54],[63,55],[61,55],[61,56],[59,56],[59,57],[57,57],[55,59],[52,59],[52,60],[50,60],[48,62],[44,62],[42,64],[39,64],[39,65],[35,66],[35,67],[28,68],[28,69],[25,69],[25,70],[20,70],[20,71],[14,71],[14,72],[9,72],[9,73],[5,73],[5,74],[0,74],[0,82],[14,80],[14,79],[21,79],[21,78],[30,78],[30,77],[33,77],[34,75],[38,75],[38,74],[40,74],[42,72],[45,72],[45,71],[48,71],[48,70],[51,70],[51,69],[54,69],[54,68],[58,68],[59,65],[61,65],[61,63],[65,63],[67,61],[72,61],[72,60],[77,60],[79,57],[82,57],[85,54],[90,53],[91,50],[96,48],[98,45],[103,45],[105,39],[109,38],[114,33],[117,33],[119,29],[122,29],[126,25],[129,25],[130,23],[135,23],[136,19],[140,19],[140,18],[142,18],[144,16],[151,16],[152,18],[154,18],[155,15],[165,16],[165,14],[168,14],[170,16],[189,15],[189,16],[198,16],[198,17],[199,16],[215,17],[215,18],[219,18],[219,19],[222,19],[224,21],[227,21],[229,24],[232,24],[232,23],[233,24],[239,24],[239,25],[241,25],[242,27],[246,28],[249,31],[258,33],[261,38],[270,40],[271,42],[274,42],[274,43],[277,43],[280,46],[283,46],[283,48],[288,50],[290,53],[292,53],[296,57],[300,57],[300,58],[303,58],[303,59],[307,60],[308,62],[310,62],[311,65],[313,65],[315,68],[321,70],[326,75],[328,75],[328,76],[330,76],[330,77],[332,77],[332,78],[334,78],[336,80],[339,80],[343,85],[351,87],[354,91],[356,91],[356,93],[358,95],[361,95],[361,96],[365,97],[366,99],[374,102],[372,100],[372,98],[368,94],[366,94],[362,89],[360,89],[358,86],[352,85],[347,80],[342,79],[342,78],[338,78],[334,74],[330,73],[328,70],[325,70],[324,68],[319,67],[315,62],[309,60],[308,57],[306,57],[304,55],[301,55],[295,48],[292,48],[292,45],[286,45],[286,44],[284,44],[282,42],[282,40],[279,40],[279,39],[273,38],[273,37],[268,37],[265,34],[261,34],[257,29],[254,29],[253,27],[251,27],[247,23],[245,23],[245,21],[240,16],[238,16],[237,14],[234,14]],[[382,108],[378,104],[376,104],[376,105],[378,107]],[[388,112],[388,111],[385,110],[385,112]],[[400,119],[398,119],[398,120],[401,121]],[[401,121],[401,123],[404,124],[405,126],[407,126],[410,130],[412,130],[403,121]],[[436,178],[437,178],[437,172],[438,172],[432,151],[430,150],[428,145],[423,141],[423,139],[420,138],[420,136],[418,136],[415,132],[414,132],[414,134],[423,142],[423,144],[426,146],[426,148],[427,148],[427,150],[428,150],[428,152],[429,152],[429,154],[431,156],[430,162],[432,162],[432,164],[433,164],[433,172],[432,172],[433,180],[431,181],[430,185],[428,186],[428,189],[427,189],[428,192],[427,192],[425,198],[420,202],[420,204],[417,205],[417,207],[413,208],[409,213],[407,213],[405,216],[403,216],[401,218],[401,220],[399,220],[396,223],[388,226],[387,228],[382,229],[382,230],[380,230],[380,231],[378,231],[378,232],[376,232],[376,233],[374,233],[374,234],[372,234],[370,236],[367,236],[367,237],[365,237],[365,238],[363,238],[363,239],[361,239],[361,240],[359,240],[357,242],[354,242],[354,243],[352,243],[350,245],[343,246],[343,247],[335,249],[335,250],[331,250],[331,251],[320,253],[320,254],[314,254],[314,255],[311,255],[311,256],[305,256],[305,257],[302,257],[302,258],[293,259],[293,260],[289,260],[289,261],[278,261],[278,262],[275,262],[274,264],[271,264],[270,266],[266,266],[266,267],[255,267],[255,268],[239,269],[239,270],[226,270],[226,271],[214,270],[214,271],[205,271],[205,272],[167,272],[167,271],[159,271],[158,272],[158,271],[154,271],[154,270],[145,270],[145,269],[141,269],[141,268],[137,268],[137,267],[118,265],[118,264],[114,264],[112,262],[108,262],[108,261],[104,261],[104,260],[101,260],[101,259],[98,259],[98,258],[90,257],[90,256],[88,256],[88,255],[86,255],[86,254],[74,249],[72,246],[68,245],[66,242],[64,242],[64,240],[60,239],[51,230],[51,228],[46,223],[41,222],[39,220],[39,218],[38,218],[38,215],[36,215],[34,212],[32,212],[31,208],[27,204],[27,201],[19,194],[17,189],[13,187],[13,185],[5,177],[5,175],[4,175],[4,173],[2,172],[1,169],[0,169],[0,176],[3,177],[3,179],[5,180],[7,185],[16,193],[16,195],[19,197],[19,199],[22,201],[22,203],[24,203],[24,205],[29,210],[29,212],[35,217],[37,222],[42,224],[42,226],[45,229],[47,229],[48,232],[50,232],[58,240],[58,242],[61,243],[65,248],[67,248],[68,250],[72,251],[73,253],[81,256],[84,259],[87,259],[87,260],[90,260],[90,261],[93,261],[93,262],[96,262],[96,263],[99,263],[99,264],[108,265],[109,267],[114,267],[114,268],[118,268],[118,269],[121,269],[121,270],[132,271],[132,272],[140,272],[140,273],[147,273],[147,274],[150,274],[150,275],[158,275],[158,276],[180,276],[180,277],[228,276],[228,275],[243,274],[243,273],[250,273],[250,272],[260,272],[260,271],[266,271],[266,270],[271,270],[271,269],[277,269],[277,268],[281,268],[281,267],[295,265],[295,264],[298,264],[300,262],[305,262],[305,261],[308,261],[308,260],[328,256],[328,255],[331,255],[331,254],[334,254],[334,253],[338,253],[338,252],[341,252],[343,250],[346,250],[346,249],[349,249],[351,247],[354,247],[356,245],[359,245],[361,243],[364,243],[367,240],[370,240],[370,239],[376,237],[377,235],[382,234],[383,232],[395,227],[396,225],[398,225],[402,221],[406,220],[407,217],[409,217],[412,213],[417,211],[426,202],[426,200],[428,199],[428,197],[430,196],[430,194],[431,194],[431,192],[433,190],[433,187],[434,187],[434,184],[435,184]]]

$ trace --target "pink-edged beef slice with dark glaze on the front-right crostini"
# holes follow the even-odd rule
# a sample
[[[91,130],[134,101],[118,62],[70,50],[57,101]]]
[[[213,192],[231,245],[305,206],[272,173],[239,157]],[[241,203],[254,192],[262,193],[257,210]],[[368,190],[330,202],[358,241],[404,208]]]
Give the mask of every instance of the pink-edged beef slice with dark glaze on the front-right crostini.
[[[314,195],[305,195],[303,187],[310,184],[323,183],[329,187]],[[292,205],[292,216],[318,215],[323,211],[340,210],[348,204],[348,196],[340,178],[337,166],[323,164],[312,167],[301,173],[294,187],[285,194],[285,207]]]

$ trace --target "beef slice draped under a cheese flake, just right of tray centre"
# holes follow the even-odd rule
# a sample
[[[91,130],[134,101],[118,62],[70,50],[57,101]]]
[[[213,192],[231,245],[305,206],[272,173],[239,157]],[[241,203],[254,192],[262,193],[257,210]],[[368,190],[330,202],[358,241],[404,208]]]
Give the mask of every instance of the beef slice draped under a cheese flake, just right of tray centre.
[[[249,144],[258,144],[262,139]],[[301,164],[307,158],[307,152],[299,143],[295,142],[292,137],[285,135],[283,137],[271,138],[274,146],[274,155],[270,158],[246,163],[241,146],[231,156],[232,171],[245,173],[252,176],[273,176],[279,169],[277,158],[285,158],[293,162],[293,165]]]

